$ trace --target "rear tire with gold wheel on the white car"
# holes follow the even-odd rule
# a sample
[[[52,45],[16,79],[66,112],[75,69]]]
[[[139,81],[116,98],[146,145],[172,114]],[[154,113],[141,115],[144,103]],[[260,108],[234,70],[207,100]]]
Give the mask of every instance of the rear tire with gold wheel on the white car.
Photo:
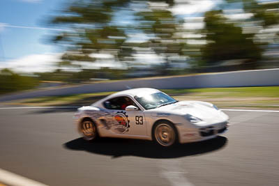
[[[98,137],[96,124],[89,118],[85,118],[80,123],[80,132],[86,141],[93,141]]]

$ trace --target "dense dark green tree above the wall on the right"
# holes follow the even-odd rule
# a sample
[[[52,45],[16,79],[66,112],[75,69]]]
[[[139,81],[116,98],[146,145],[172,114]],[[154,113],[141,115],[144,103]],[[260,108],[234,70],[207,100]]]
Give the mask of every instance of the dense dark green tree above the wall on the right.
[[[252,34],[242,32],[241,27],[227,23],[222,11],[212,10],[205,14],[206,40],[202,57],[209,64],[230,59],[246,59],[246,62],[261,59],[261,49],[252,39]]]

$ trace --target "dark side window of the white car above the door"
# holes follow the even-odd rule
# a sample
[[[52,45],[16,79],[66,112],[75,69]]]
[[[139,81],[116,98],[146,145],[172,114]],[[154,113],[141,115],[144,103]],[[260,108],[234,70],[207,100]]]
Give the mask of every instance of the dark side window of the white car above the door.
[[[134,105],[137,107],[137,104],[133,102],[130,98],[126,96],[121,96],[118,98],[112,98],[103,102],[103,105],[106,109],[113,109],[113,110],[125,110],[128,105]]]

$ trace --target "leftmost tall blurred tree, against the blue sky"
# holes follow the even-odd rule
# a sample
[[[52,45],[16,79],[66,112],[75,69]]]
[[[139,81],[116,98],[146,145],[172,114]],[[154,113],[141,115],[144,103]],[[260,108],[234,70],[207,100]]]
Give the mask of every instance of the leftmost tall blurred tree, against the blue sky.
[[[116,61],[127,54],[123,43],[127,39],[121,26],[111,24],[114,13],[128,6],[130,0],[73,1],[52,17],[50,23],[65,29],[52,38],[65,49],[59,65],[73,65],[73,61],[93,62],[91,54],[111,54]],[[125,53],[125,54],[124,54]]]

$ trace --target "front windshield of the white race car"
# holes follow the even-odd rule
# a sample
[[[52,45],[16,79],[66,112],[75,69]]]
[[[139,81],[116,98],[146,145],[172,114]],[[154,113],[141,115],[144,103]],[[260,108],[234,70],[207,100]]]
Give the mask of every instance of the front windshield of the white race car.
[[[172,104],[174,102],[177,102],[174,100],[174,98],[170,97],[169,95],[165,93],[152,93],[152,94],[147,94],[142,97],[138,97],[137,95],[135,96],[135,100],[142,104],[142,107],[144,109],[155,109],[158,107],[161,107],[166,104]]]

